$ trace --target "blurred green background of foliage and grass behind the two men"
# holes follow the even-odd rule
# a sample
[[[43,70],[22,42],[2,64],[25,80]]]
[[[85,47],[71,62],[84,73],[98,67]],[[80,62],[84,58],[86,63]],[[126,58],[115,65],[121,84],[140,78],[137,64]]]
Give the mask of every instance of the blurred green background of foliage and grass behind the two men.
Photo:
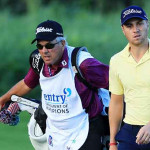
[[[128,5],[142,6],[150,16],[149,0],[0,0],[0,95],[24,78],[36,26],[47,19],[62,24],[69,45],[86,46],[98,60],[110,57],[127,41],[120,27],[120,11]],[[37,87],[27,97],[40,99]],[[2,150],[33,150],[28,138],[30,115],[20,114],[15,127],[0,124]]]

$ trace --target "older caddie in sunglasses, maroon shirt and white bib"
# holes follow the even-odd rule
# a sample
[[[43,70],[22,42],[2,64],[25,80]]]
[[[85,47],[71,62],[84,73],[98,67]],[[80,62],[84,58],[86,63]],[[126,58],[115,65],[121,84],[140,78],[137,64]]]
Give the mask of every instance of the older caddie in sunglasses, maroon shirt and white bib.
[[[0,98],[1,107],[16,94],[22,96],[38,83],[42,107],[47,115],[46,135],[50,150],[100,150],[103,105],[97,92],[85,86],[71,65],[74,47],[67,45],[61,25],[47,20],[36,28],[37,49],[44,61],[40,74],[30,68],[25,79]],[[78,65],[92,87],[108,88],[109,67],[90,53],[79,53]],[[87,113],[86,113],[87,110]]]

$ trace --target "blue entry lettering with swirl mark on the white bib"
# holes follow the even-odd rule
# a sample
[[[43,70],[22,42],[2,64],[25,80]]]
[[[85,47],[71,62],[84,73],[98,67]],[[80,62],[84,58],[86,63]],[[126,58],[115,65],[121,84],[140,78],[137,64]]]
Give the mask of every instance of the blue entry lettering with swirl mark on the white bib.
[[[55,94],[44,94],[45,101],[49,103],[55,103],[55,104],[65,104],[66,98],[70,97],[72,94],[72,91],[70,88],[64,88],[62,95],[55,95]]]

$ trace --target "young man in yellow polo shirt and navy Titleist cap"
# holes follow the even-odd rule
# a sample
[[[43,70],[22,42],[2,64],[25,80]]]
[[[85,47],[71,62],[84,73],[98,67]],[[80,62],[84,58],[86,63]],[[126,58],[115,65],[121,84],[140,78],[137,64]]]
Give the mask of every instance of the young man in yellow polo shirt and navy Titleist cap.
[[[110,60],[110,150],[150,150],[150,50],[146,13],[138,6],[125,8],[121,12],[121,27],[128,44]]]

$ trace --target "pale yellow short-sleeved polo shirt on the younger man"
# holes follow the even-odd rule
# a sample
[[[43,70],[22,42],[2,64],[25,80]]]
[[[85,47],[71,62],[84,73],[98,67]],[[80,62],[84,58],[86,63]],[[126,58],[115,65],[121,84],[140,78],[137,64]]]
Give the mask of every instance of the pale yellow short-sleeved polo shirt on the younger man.
[[[114,55],[110,60],[109,83],[113,94],[124,94],[124,122],[147,124],[150,121],[150,49],[138,63],[129,53],[129,45]]]

